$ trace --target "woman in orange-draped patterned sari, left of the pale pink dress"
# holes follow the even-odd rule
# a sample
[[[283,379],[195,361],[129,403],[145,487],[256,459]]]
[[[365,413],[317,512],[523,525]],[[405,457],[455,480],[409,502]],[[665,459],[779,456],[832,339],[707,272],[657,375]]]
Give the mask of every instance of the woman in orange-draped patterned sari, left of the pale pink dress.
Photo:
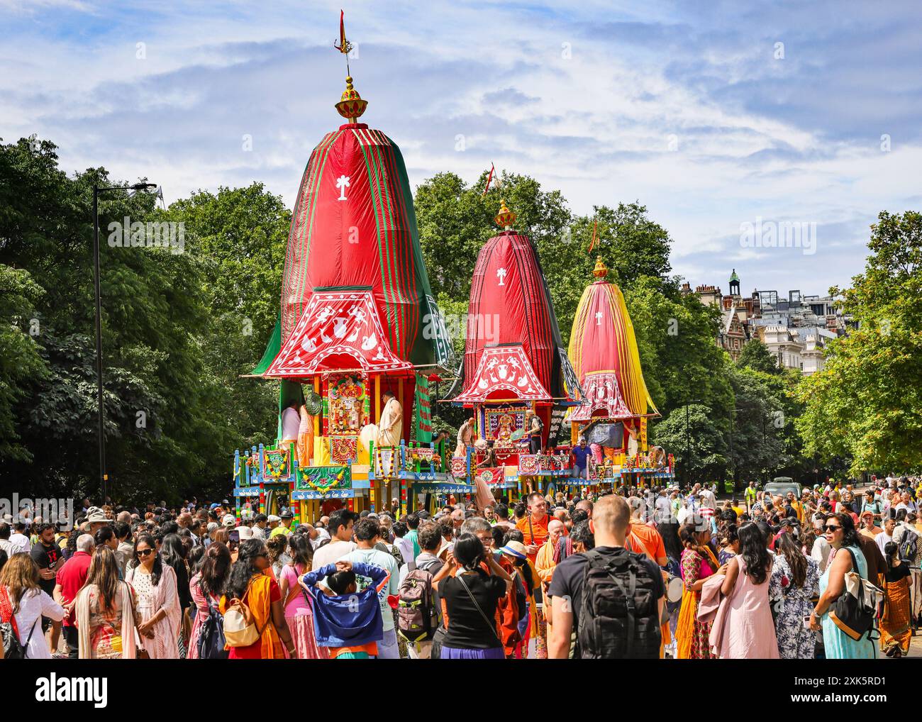
[[[711,529],[703,524],[701,530],[693,524],[680,528],[679,538],[682,546],[682,604],[679,623],[676,626],[677,658],[711,659],[711,622],[698,620],[698,603],[701,601],[701,588],[704,581],[713,574],[722,571],[711,550]]]

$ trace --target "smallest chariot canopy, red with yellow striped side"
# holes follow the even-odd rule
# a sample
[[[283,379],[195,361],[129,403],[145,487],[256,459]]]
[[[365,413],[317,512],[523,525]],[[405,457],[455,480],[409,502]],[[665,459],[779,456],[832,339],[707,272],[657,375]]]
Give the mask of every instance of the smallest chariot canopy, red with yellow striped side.
[[[658,414],[644,382],[637,339],[621,289],[605,280],[608,268],[598,258],[596,281],[583,291],[570,335],[570,360],[585,391],[585,403],[568,420],[594,417],[631,419]]]

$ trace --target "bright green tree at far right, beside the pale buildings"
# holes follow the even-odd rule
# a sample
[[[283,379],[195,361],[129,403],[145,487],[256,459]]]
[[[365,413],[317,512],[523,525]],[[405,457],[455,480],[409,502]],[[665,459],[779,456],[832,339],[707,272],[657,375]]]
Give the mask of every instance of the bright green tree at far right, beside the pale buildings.
[[[878,216],[865,272],[843,295],[857,325],[829,343],[822,372],[797,389],[805,453],[851,459],[849,471],[922,468],[922,214]]]

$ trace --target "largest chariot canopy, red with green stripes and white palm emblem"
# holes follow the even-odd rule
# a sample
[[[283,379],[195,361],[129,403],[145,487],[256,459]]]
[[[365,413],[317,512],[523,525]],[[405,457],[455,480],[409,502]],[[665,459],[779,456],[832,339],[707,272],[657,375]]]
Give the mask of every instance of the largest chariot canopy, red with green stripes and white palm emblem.
[[[301,177],[282,275],[281,349],[265,376],[311,375],[329,368],[325,359],[368,370],[455,365],[403,156],[384,133],[355,122],[366,101],[347,82],[337,110],[351,122],[324,136]],[[307,309],[310,323],[300,324]]]

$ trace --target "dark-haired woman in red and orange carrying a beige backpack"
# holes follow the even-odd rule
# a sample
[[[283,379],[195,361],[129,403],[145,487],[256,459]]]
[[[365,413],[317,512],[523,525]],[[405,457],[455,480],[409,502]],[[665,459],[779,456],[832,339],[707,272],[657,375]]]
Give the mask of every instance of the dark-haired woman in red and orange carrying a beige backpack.
[[[220,611],[224,614],[231,601],[240,599],[253,613],[261,635],[252,645],[231,647],[229,659],[284,659],[286,650],[289,657],[297,656],[285,621],[281,590],[278,582],[266,574],[268,568],[269,553],[263,540],[243,541],[237,550],[237,561],[231,566]]]

